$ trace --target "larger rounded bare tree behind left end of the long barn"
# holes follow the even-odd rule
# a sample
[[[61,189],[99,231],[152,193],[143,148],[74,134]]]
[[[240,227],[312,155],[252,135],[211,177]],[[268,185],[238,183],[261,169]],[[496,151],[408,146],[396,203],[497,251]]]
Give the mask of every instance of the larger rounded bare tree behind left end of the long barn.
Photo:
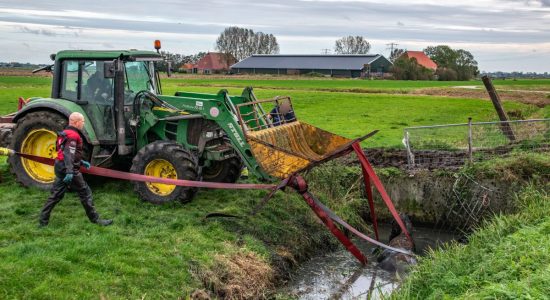
[[[233,26],[225,28],[220,34],[216,40],[216,49],[242,60],[252,54],[279,53],[279,44],[273,34]]]

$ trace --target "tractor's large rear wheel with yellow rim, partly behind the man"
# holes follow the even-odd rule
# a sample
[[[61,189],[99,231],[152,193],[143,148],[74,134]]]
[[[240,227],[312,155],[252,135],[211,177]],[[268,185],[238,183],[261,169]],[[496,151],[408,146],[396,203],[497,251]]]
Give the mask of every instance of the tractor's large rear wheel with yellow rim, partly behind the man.
[[[31,112],[22,117],[11,138],[11,148],[17,152],[55,158],[57,132],[67,125],[67,118],[49,111]],[[13,155],[9,158],[11,171],[24,186],[49,189],[55,179],[53,166],[44,165]]]

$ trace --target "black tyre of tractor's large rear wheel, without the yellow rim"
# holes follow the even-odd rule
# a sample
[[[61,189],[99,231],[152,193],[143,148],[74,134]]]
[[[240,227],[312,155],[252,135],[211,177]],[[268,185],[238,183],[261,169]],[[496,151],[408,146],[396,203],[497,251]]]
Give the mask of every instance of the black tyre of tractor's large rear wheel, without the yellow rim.
[[[11,149],[21,152],[23,141],[34,130],[46,129],[57,133],[58,131],[63,130],[66,126],[67,118],[58,113],[50,111],[38,111],[28,113],[27,115],[19,119],[17,125],[15,126],[15,130],[13,131],[13,136],[11,138]],[[51,188],[52,182],[40,182],[31,177],[31,175],[29,175],[25,170],[23,160],[19,156],[10,156],[8,161],[11,166],[11,172],[15,175],[16,180],[22,185],[27,187],[38,187],[41,189]]]

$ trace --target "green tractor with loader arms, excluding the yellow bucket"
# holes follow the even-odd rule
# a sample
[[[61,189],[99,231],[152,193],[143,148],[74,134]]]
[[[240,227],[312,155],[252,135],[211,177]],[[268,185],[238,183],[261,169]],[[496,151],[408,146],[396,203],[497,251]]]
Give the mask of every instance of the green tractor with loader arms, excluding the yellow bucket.
[[[92,165],[233,183],[244,163],[257,176],[269,177],[246,155],[249,145],[236,118],[236,104],[255,100],[252,89],[240,97],[225,90],[162,95],[155,62],[163,58],[153,51],[60,51],[52,59],[44,68],[53,73],[51,98],[31,98],[11,116],[12,149],[54,158],[56,132],[70,113],[80,112],[86,119],[85,159]],[[17,156],[9,162],[25,186],[49,188],[54,180],[50,166]],[[136,183],[136,190],[153,203],[186,202],[196,192],[156,183]]]

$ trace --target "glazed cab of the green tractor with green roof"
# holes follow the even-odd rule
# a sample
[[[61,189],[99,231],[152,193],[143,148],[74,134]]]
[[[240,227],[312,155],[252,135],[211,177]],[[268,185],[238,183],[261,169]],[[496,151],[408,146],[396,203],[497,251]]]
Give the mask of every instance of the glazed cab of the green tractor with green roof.
[[[158,60],[162,57],[151,51],[61,51],[55,56],[51,97],[82,107],[97,141],[116,144],[117,125],[127,131],[124,120],[135,95],[160,94],[154,64]],[[119,118],[124,124],[117,124]]]

